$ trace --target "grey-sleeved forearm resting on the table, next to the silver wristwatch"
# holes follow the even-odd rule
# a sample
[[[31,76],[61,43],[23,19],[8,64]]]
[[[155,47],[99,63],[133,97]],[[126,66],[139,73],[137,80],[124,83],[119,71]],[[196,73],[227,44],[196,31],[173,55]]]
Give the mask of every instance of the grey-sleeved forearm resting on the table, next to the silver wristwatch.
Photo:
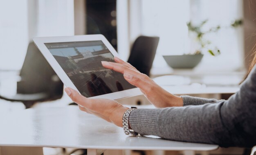
[[[218,112],[222,104],[136,109],[130,114],[129,122],[131,128],[142,135],[156,135],[164,139],[184,142],[234,146]],[[205,110],[212,113],[207,113]]]

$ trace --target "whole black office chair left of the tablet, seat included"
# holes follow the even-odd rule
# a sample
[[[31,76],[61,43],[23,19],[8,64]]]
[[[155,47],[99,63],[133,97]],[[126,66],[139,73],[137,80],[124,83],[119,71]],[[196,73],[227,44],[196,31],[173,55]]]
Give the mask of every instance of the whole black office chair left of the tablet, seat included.
[[[1,99],[22,102],[30,108],[36,102],[56,100],[63,95],[63,83],[34,43],[29,43],[20,77],[17,94],[11,97],[0,94]]]

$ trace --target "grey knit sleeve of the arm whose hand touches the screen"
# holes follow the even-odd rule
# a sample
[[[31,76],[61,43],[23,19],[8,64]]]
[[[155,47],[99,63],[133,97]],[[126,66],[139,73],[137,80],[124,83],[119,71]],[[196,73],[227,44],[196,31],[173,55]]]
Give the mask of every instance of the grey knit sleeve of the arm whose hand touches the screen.
[[[207,98],[199,98],[199,97],[192,97],[192,96],[180,96],[183,99],[183,106],[188,105],[203,105],[206,103],[217,103],[218,100],[216,99],[207,99]]]

